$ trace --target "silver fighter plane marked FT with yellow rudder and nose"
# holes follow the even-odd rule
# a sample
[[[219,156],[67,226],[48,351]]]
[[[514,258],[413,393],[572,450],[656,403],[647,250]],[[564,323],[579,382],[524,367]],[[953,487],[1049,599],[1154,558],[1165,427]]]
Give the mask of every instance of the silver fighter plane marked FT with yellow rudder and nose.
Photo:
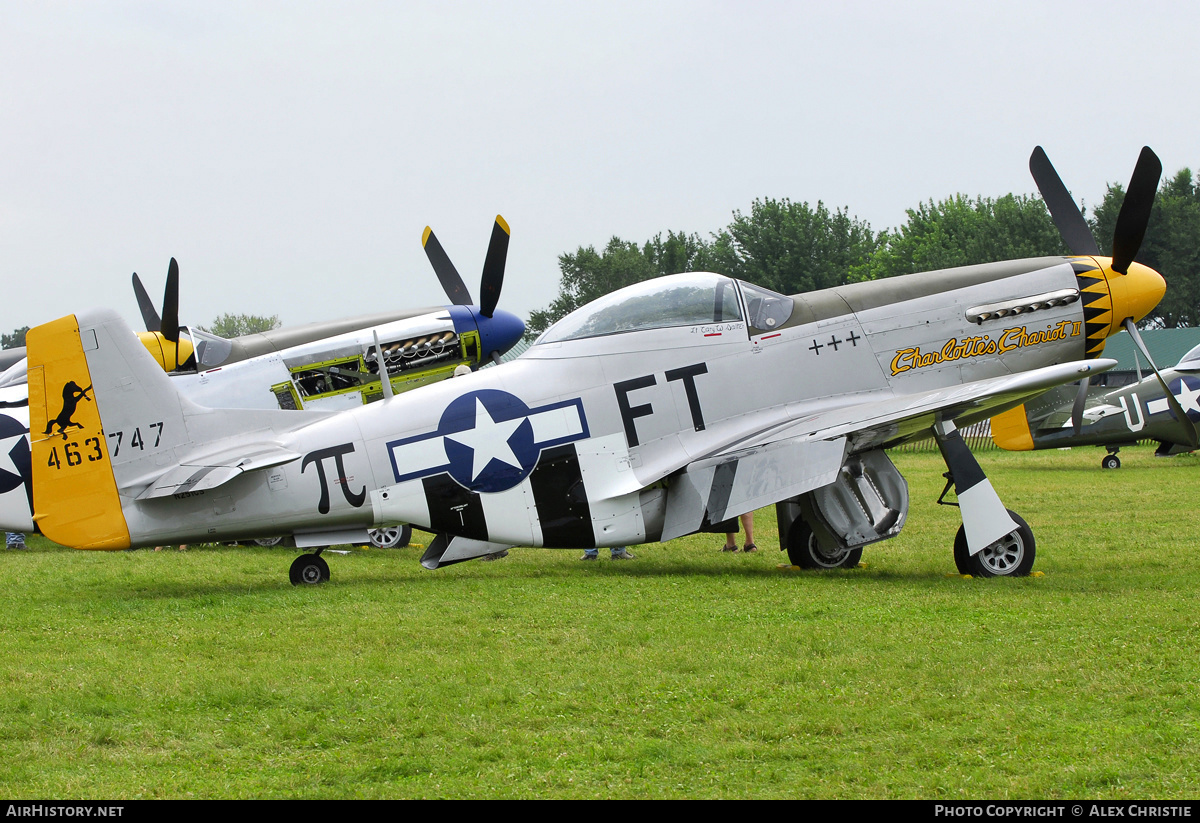
[[[1134,173],[1151,193],[1152,158]],[[197,406],[120,318],[80,312],[28,337],[35,518],[78,548],[282,533],[324,546],[410,523],[437,533],[421,560],[436,569],[509,546],[670,540],[776,504],[793,561],[834,567],[904,527],[907,485],[886,449],[932,434],[962,513],[959,569],[1028,573],[1032,531],[958,429],[1114,365],[1105,337],[1165,290],[1132,263],[1145,229],[1132,220],[1114,258],[793,296],[662,277],[580,308],[499,368],[329,414]],[[95,402],[42,435],[68,383]],[[328,577],[319,552],[293,566],[298,582]]]

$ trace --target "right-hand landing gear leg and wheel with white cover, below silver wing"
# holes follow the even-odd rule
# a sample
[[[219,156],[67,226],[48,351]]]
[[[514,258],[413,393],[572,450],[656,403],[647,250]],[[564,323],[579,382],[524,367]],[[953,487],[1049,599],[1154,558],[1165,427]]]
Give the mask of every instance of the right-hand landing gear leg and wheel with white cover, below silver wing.
[[[934,426],[937,447],[946,461],[947,483],[938,503],[954,486],[962,527],[954,540],[954,563],[960,573],[980,577],[1028,575],[1033,569],[1033,531],[1004,507],[1000,495],[950,421]]]

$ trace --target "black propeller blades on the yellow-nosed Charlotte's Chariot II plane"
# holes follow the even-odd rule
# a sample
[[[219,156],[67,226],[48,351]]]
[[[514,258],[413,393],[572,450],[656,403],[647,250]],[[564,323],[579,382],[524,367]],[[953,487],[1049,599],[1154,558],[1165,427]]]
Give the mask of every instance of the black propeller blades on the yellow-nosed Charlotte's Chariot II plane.
[[[1067,191],[1067,186],[1063,185],[1062,178],[1058,176],[1058,173],[1042,146],[1037,146],[1033,154],[1030,155],[1030,174],[1033,175],[1033,180],[1038,185],[1038,191],[1042,193],[1042,199],[1050,211],[1054,224],[1058,228],[1058,234],[1062,235],[1063,242],[1067,244],[1067,248],[1073,254],[1099,256],[1100,247],[1096,242],[1096,235],[1092,234],[1084,212],[1075,205],[1075,200],[1072,199],[1070,192]],[[1146,226],[1150,223],[1150,214],[1154,208],[1154,194],[1158,192],[1158,180],[1162,174],[1163,164],[1159,162],[1158,156],[1151,151],[1150,146],[1142,146],[1141,154],[1138,156],[1138,164],[1133,169],[1133,176],[1129,178],[1129,187],[1126,190],[1124,202],[1121,204],[1116,227],[1112,230],[1112,271],[1117,274],[1128,274],[1129,264],[1133,263],[1138,250],[1141,248],[1141,241],[1146,236]],[[1142,344],[1136,326],[1134,326],[1130,319],[1126,319],[1123,325],[1126,330],[1132,330],[1129,334],[1138,348],[1141,349],[1146,360],[1151,362],[1151,367],[1154,370],[1154,374],[1158,374],[1159,382],[1163,382],[1163,376],[1158,373],[1158,368],[1150,360],[1150,353]],[[1165,382],[1163,382],[1163,386],[1165,389]],[[1084,378],[1079,384],[1075,402],[1070,407],[1070,425],[1075,434],[1079,434],[1084,425],[1087,388],[1088,380]],[[1182,414],[1182,408],[1176,412],[1178,402],[1176,402],[1174,395],[1168,391],[1166,396],[1171,406],[1171,412],[1176,414],[1177,419],[1182,417],[1184,431],[1194,443],[1196,437],[1195,426],[1192,425],[1186,414]]]

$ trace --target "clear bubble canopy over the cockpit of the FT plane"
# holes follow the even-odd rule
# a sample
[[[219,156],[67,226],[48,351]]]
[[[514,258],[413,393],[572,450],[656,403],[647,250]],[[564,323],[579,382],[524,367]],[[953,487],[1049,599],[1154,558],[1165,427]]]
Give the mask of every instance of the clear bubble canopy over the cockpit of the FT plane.
[[[643,329],[733,323],[743,318],[737,281],[724,275],[670,275],[628,286],[577,308],[538,343],[617,335]]]

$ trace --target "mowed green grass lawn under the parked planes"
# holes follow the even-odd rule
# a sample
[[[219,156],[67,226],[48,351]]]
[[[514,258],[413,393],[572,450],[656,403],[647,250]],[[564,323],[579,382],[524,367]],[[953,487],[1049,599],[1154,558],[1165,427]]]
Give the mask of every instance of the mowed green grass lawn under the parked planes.
[[[954,573],[936,452],[865,567],[420,548],[0,555],[11,798],[1195,798],[1200,459],[980,456],[1036,575]],[[425,535],[418,534],[418,539]]]

